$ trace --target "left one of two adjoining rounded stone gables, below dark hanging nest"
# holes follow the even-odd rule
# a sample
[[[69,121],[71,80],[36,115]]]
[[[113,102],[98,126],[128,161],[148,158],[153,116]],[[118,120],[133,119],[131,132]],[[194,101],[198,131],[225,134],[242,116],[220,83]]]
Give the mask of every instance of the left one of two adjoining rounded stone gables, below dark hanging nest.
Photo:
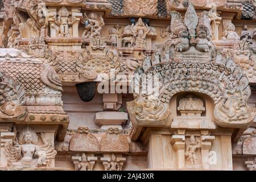
[[[89,132],[88,127],[81,126],[77,133],[70,140],[69,150],[71,151],[100,151],[98,139]]]

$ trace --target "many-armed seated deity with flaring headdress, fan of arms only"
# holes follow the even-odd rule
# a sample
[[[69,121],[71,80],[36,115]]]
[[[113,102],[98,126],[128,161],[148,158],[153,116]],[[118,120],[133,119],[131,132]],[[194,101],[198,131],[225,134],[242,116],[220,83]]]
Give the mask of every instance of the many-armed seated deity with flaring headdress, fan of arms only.
[[[5,154],[11,166],[15,168],[49,166],[57,152],[52,144],[47,142],[44,135],[45,133],[40,133],[43,145],[38,146],[38,135],[35,130],[27,126],[16,141],[6,143]]]

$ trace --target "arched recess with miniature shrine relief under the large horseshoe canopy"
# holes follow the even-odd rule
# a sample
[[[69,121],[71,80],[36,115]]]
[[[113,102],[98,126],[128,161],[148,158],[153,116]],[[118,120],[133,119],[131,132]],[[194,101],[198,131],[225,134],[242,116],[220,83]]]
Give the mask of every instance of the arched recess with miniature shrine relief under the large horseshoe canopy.
[[[170,102],[172,129],[214,130],[214,101],[205,94],[182,92]]]

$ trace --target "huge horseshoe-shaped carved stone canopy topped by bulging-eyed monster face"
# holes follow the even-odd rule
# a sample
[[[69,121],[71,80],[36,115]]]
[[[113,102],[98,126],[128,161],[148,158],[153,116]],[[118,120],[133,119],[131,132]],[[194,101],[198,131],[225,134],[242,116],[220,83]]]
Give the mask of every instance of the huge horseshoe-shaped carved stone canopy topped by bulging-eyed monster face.
[[[170,35],[154,55],[144,59],[142,68],[135,71],[138,74],[134,83],[140,90],[150,85],[144,80],[145,75],[158,76],[159,93],[134,92],[135,100],[127,103],[134,127],[165,123],[171,112],[169,101],[180,92],[199,92],[211,97],[215,102],[214,121],[218,125],[246,126],[254,118],[254,112],[246,104],[251,94],[249,80],[232,57],[222,55],[213,46],[208,13],[204,11],[198,19],[190,5],[185,21],[176,11],[171,16]]]

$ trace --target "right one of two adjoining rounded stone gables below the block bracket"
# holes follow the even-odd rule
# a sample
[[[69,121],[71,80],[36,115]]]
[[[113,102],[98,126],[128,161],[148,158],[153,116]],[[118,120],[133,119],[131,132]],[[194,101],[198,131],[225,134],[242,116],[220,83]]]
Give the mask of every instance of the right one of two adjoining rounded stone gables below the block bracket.
[[[129,152],[127,138],[120,134],[118,128],[110,127],[101,138],[101,151],[104,152]]]

